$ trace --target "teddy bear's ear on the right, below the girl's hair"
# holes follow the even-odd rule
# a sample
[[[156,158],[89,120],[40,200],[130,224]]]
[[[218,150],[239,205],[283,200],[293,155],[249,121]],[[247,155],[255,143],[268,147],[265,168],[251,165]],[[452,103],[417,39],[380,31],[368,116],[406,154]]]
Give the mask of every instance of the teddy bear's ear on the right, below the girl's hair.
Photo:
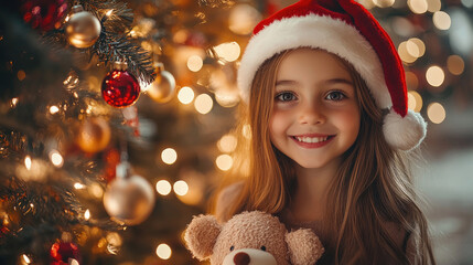
[[[313,265],[324,252],[319,237],[310,229],[287,233],[286,243],[292,265]]]

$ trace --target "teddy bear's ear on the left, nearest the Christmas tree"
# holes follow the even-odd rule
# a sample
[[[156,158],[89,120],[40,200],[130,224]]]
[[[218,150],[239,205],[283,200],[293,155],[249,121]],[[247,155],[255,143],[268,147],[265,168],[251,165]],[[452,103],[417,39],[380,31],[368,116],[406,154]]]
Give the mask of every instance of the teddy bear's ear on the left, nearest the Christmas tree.
[[[221,230],[222,225],[215,216],[203,214],[194,216],[184,234],[186,246],[194,257],[200,261],[209,258]]]

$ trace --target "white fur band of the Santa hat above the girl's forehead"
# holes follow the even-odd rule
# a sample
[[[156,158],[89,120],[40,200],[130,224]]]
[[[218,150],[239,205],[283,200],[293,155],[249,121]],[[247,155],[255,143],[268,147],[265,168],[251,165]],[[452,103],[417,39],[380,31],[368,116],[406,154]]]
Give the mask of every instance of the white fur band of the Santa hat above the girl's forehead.
[[[345,59],[366,82],[379,108],[393,105],[381,63],[366,39],[342,20],[312,13],[275,21],[251,38],[238,70],[241,98],[249,102],[252,80],[266,60],[295,47],[322,49]]]

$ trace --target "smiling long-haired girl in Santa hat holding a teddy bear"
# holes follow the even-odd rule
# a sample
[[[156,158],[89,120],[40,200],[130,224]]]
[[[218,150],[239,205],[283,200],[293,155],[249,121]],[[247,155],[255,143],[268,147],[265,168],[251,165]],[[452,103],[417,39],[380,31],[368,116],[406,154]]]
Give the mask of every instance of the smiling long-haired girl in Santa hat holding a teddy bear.
[[[426,123],[367,10],[302,0],[261,21],[238,85],[250,137],[234,167],[243,178],[217,198],[221,221],[260,210],[310,227],[325,247],[318,264],[434,264],[408,165]]]

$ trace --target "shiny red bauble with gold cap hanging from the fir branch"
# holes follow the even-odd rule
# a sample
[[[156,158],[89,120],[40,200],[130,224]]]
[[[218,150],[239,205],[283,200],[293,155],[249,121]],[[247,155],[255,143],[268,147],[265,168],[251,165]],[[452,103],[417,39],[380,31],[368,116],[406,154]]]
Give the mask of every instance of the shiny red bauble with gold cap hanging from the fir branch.
[[[116,62],[114,67],[115,70],[109,72],[101,83],[101,96],[114,107],[128,107],[138,100],[140,84],[127,71],[127,63]]]

